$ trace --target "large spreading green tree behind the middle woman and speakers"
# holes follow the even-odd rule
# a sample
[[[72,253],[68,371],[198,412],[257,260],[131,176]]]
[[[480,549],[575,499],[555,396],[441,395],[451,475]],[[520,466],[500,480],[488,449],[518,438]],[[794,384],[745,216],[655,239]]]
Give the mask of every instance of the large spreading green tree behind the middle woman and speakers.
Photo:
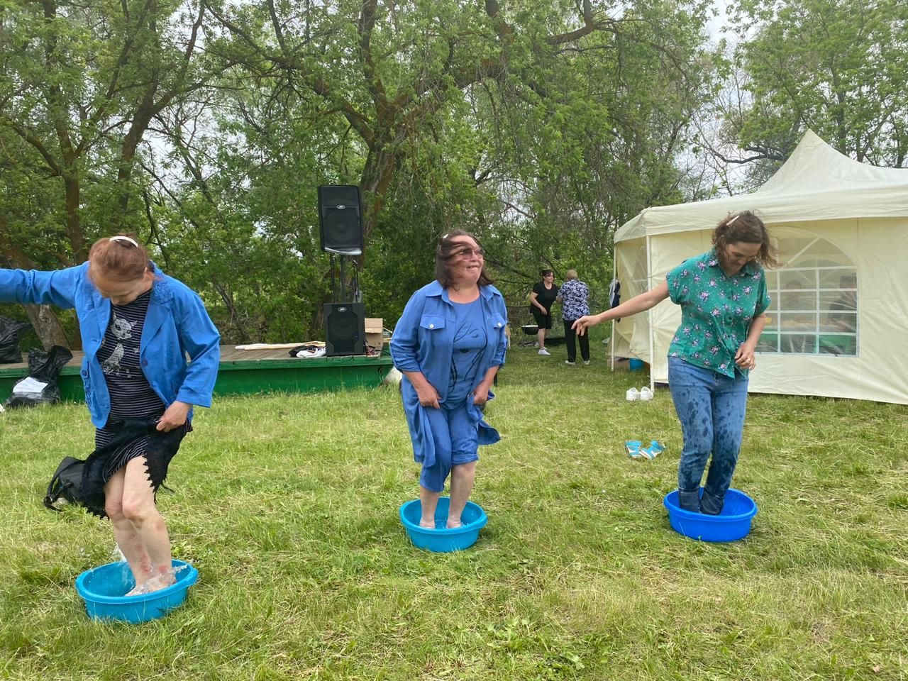
[[[419,243],[430,259],[456,227],[500,243],[516,287],[552,243],[605,271],[617,224],[679,195],[674,158],[711,77],[701,4],[641,2],[618,19],[589,2],[208,7],[225,29],[212,51],[242,63],[282,125],[308,122],[321,182],[363,189],[364,282],[389,300],[417,283],[400,281],[400,254]],[[285,155],[280,127],[243,114],[232,128],[263,158],[253,182]]]

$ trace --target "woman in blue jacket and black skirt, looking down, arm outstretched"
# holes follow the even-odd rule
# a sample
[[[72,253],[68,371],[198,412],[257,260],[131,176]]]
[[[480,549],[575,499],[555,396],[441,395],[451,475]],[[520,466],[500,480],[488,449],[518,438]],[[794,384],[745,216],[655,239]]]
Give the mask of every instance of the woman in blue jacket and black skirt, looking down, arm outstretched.
[[[202,300],[158,270],[133,235],[120,234],[95,242],[77,267],[0,269],[0,301],[75,309],[96,428],[84,503],[111,519],[135,577],[129,595],[172,584],[170,538],[154,497],[192,429],[192,405],[212,404],[221,337]]]

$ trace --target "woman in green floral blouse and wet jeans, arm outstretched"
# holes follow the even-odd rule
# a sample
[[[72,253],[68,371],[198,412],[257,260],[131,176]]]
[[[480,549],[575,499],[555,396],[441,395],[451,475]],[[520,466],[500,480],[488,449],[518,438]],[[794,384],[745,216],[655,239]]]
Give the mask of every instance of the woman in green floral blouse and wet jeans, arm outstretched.
[[[764,223],[752,212],[729,215],[713,232],[711,251],[682,262],[656,288],[574,322],[582,335],[669,297],[681,306],[681,325],[668,349],[668,388],[684,436],[678,500],[686,510],[722,511],[741,449],[747,375],[756,366],[754,351],[766,324],[763,267],[777,265]]]

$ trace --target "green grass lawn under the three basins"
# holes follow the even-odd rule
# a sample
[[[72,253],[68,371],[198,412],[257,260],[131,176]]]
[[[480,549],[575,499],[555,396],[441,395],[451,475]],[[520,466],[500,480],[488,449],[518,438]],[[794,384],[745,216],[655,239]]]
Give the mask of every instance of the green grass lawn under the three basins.
[[[459,554],[413,548],[419,469],[396,390],[218,400],[199,410],[159,506],[199,568],[141,626],[85,617],[106,521],[41,505],[93,441],[84,405],[0,415],[0,678],[903,679],[908,410],[754,395],[735,487],[744,541],[668,527],[680,429],[644,376],[510,353]],[[628,438],[668,444],[654,461]]]

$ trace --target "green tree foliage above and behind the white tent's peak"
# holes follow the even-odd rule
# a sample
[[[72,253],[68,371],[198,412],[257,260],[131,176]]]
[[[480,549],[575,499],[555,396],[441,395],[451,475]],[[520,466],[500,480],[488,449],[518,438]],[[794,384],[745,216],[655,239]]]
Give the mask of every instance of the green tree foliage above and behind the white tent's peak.
[[[743,0],[737,50],[752,101],[729,125],[781,163],[808,128],[874,165],[908,159],[908,5],[898,0]]]

